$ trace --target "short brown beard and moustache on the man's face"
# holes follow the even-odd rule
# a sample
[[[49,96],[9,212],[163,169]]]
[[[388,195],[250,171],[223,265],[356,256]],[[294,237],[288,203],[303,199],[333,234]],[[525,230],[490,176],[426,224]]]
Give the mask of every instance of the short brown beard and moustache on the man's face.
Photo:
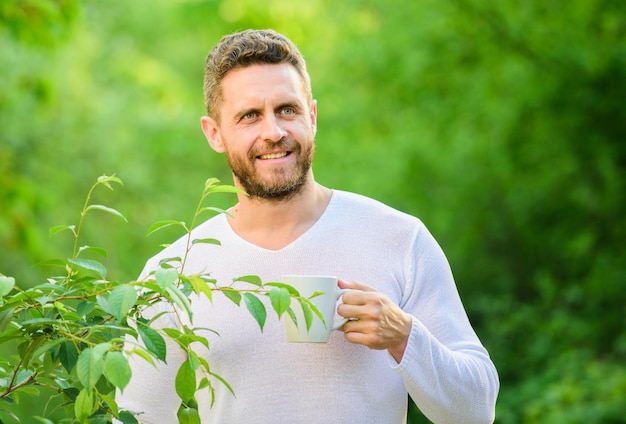
[[[301,144],[279,141],[268,147],[288,149],[291,151],[290,155],[297,155],[295,169],[277,167],[272,171],[272,175],[261,178],[254,167],[254,163],[260,160],[257,159],[255,153],[257,149],[252,150],[247,157],[226,152],[228,164],[241,187],[251,198],[270,201],[287,200],[299,193],[306,183],[313,161],[314,143],[307,143],[302,147]]]

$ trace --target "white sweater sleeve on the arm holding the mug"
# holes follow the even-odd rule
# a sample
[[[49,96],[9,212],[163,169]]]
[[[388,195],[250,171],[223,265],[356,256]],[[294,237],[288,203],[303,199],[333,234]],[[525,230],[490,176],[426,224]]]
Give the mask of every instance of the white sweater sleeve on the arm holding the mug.
[[[497,371],[471,327],[443,251],[423,225],[409,256],[401,306],[413,325],[402,361],[389,355],[390,364],[434,423],[491,423]]]

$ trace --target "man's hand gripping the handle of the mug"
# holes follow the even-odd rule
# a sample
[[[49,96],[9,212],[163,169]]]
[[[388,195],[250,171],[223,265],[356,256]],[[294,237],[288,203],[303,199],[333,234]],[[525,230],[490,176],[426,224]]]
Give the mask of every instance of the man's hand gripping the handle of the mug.
[[[400,363],[411,332],[411,316],[365,284],[339,280],[339,287],[350,289],[337,307],[339,315],[350,319],[341,327],[346,340],[370,349],[387,349]]]

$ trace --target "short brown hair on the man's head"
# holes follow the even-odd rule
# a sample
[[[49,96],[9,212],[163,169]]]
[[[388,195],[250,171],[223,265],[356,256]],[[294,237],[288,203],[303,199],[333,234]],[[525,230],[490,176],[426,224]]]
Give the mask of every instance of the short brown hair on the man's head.
[[[204,68],[204,104],[207,114],[213,119],[219,119],[221,83],[229,71],[252,65],[281,63],[296,68],[310,102],[311,82],[304,58],[287,37],[271,29],[245,30],[222,37],[207,56]]]

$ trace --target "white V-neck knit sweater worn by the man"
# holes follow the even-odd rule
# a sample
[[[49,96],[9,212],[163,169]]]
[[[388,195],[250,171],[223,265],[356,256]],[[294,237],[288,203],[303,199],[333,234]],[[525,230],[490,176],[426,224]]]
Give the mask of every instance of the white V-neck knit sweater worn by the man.
[[[206,332],[211,370],[233,388],[214,382],[215,403],[197,394],[203,423],[390,423],[406,421],[407,393],[435,423],[488,423],[499,382],[459,299],[448,262],[417,218],[372,199],[335,190],[317,223],[285,248],[273,251],[236,235],[226,216],[194,230],[221,246],[195,245],[187,274],[208,272],[222,285],[258,275],[336,275],[386,293],[413,316],[400,364],[386,352],[347,342],[335,331],[327,344],[289,343],[269,303],[261,332],[246,308],[216,293],[213,303],[193,298],[194,325]],[[184,254],[181,239],[148,261]],[[144,411],[141,423],[176,423],[180,400],[174,378],[181,350],[168,345],[167,366],[133,359],[133,376],[120,407]]]

